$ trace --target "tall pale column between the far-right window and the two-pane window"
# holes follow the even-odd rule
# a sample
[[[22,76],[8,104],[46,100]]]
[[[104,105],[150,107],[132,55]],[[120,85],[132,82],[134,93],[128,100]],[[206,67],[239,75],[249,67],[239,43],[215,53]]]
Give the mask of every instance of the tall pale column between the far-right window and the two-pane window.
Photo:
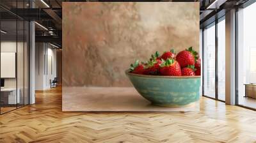
[[[236,104],[236,10],[226,13],[226,103]]]

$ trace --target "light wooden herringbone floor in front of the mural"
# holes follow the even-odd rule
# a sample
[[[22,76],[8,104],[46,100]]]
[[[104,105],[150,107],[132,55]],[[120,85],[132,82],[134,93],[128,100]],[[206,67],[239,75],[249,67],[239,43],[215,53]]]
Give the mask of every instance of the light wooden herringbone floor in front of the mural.
[[[61,112],[61,88],[0,116],[0,142],[256,142],[256,112],[200,100],[200,112]]]

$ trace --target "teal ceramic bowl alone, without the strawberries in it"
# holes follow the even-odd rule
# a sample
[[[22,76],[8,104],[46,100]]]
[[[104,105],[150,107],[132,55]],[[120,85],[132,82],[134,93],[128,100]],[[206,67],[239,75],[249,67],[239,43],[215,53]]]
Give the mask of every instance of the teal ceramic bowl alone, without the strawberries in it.
[[[186,107],[199,100],[200,76],[138,75],[125,71],[138,93],[154,105]]]

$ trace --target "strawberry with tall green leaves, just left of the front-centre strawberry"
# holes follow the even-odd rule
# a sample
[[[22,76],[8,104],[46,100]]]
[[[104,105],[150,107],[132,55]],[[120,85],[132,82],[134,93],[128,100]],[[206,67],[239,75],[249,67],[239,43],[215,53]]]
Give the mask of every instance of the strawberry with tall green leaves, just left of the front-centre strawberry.
[[[162,63],[162,61],[157,59],[157,52],[156,52],[156,54],[152,55],[152,58],[146,64],[145,74],[146,75],[158,75],[159,67],[160,67],[161,63]]]

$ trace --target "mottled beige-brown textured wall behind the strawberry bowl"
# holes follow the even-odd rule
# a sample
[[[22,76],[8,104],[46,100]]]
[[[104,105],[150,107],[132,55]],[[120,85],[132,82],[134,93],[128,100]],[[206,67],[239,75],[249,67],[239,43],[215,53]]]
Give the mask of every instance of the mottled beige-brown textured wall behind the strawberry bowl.
[[[131,86],[156,50],[199,49],[199,3],[63,3],[63,86]]]

